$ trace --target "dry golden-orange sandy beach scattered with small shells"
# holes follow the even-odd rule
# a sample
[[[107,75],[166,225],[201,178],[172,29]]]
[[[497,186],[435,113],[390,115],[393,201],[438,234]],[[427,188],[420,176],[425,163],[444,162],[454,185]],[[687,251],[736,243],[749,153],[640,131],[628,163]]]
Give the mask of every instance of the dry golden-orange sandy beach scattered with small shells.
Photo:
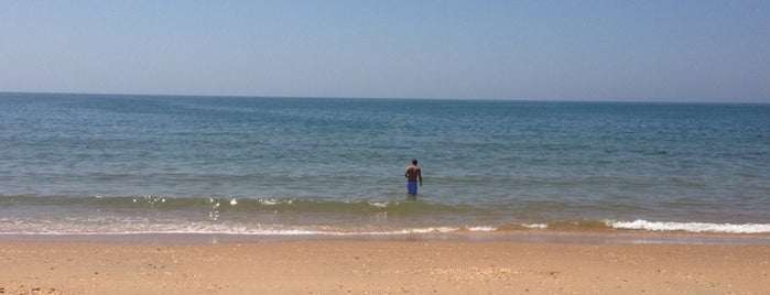
[[[770,247],[0,243],[1,294],[767,294]]]

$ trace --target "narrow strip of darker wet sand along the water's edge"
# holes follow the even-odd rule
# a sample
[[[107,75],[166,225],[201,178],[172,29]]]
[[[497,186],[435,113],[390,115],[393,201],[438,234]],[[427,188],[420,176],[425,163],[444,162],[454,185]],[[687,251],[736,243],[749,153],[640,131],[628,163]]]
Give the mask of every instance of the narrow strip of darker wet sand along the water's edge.
[[[239,234],[239,233],[99,233],[0,234],[4,242],[228,244],[301,241],[454,241],[576,244],[770,245],[767,233],[715,233],[643,230],[508,230],[489,232],[427,232],[400,234]]]

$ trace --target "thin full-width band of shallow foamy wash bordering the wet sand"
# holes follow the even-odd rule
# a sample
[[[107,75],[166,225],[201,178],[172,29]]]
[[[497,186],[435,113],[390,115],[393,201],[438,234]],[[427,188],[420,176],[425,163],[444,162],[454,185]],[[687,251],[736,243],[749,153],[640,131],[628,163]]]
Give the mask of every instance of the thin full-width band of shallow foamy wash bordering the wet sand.
[[[398,236],[430,233],[511,233],[527,230],[642,230],[695,233],[770,233],[769,223],[582,220],[497,226],[292,225],[252,221],[182,220],[147,217],[0,218],[0,234],[217,233],[248,236]]]

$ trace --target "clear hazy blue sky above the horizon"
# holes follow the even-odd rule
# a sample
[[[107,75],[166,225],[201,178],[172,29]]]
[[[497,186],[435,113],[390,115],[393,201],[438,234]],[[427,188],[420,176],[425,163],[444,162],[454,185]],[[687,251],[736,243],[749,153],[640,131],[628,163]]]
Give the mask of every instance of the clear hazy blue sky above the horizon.
[[[0,1],[0,91],[770,102],[770,1]]]

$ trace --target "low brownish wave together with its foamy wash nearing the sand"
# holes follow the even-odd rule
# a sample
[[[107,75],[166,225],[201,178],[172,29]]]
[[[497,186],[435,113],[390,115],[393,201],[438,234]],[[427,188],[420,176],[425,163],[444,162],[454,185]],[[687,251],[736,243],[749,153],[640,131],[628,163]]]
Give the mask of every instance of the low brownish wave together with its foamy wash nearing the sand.
[[[411,200],[0,196],[0,234],[391,236],[454,232],[516,234],[516,231],[522,230],[770,233],[770,223],[761,222],[540,218],[536,210],[513,214]]]

